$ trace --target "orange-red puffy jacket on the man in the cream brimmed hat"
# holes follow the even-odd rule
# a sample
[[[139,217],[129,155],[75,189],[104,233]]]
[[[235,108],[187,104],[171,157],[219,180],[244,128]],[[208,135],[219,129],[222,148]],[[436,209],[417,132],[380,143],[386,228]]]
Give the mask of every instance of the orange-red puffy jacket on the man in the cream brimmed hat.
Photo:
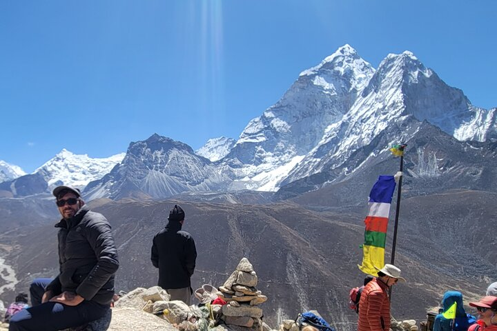
[[[364,286],[359,302],[358,331],[389,331],[390,300],[387,284],[373,279]]]

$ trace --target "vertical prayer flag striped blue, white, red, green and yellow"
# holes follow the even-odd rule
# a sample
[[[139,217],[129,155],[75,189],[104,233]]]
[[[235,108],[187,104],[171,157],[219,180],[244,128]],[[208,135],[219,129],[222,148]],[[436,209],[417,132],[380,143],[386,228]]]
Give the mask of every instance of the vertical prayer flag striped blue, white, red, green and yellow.
[[[365,274],[376,275],[374,267],[383,268],[387,225],[395,186],[393,176],[380,176],[369,194],[369,212],[364,219],[366,231],[362,245],[362,265],[358,265]]]

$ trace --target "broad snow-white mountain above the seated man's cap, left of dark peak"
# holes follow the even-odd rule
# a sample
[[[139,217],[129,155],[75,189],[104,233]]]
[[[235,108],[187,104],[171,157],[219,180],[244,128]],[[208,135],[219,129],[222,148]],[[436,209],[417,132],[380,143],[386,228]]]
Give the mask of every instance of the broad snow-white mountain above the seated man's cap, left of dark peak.
[[[120,153],[94,159],[88,157],[88,154],[74,154],[64,148],[34,173],[41,174],[50,188],[61,184],[84,188],[90,181],[104,177],[124,159],[124,155],[125,153]]]

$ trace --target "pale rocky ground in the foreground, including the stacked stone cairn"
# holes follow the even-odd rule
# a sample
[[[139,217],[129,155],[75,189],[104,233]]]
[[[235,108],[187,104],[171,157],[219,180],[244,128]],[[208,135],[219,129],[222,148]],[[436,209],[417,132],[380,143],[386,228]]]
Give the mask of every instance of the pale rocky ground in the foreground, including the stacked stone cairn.
[[[257,274],[248,259],[243,258],[235,271],[219,289],[212,288],[212,301],[206,305],[188,306],[182,301],[170,301],[169,294],[159,288],[136,288],[115,302],[106,317],[92,322],[86,330],[170,330],[170,331],[298,331],[293,319],[280,321],[271,327],[262,321],[260,305],[268,298],[257,290]],[[199,296],[197,299],[202,300]],[[319,312],[314,311],[315,314]],[[1,312],[0,312],[1,313]],[[3,314],[2,314],[3,315]],[[337,330],[342,330],[339,325]],[[8,330],[8,324],[0,324],[0,331]],[[415,320],[392,321],[393,331],[418,331]]]

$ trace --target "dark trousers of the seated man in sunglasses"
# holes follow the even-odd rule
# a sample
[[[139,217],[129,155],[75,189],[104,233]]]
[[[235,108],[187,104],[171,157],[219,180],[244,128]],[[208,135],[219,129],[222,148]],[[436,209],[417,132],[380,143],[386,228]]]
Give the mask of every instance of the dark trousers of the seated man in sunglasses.
[[[35,291],[35,299],[37,294],[41,292],[43,295],[45,292],[48,283],[44,283],[45,287],[43,283],[37,279],[31,284],[30,292]],[[39,298],[41,302],[41,296]],[[86,300],[75,306],[55,302],[41,303],[14,314],[10,319],[9,331],[56,331],[74,328],[103,317],[108,308],[108,305]]]

